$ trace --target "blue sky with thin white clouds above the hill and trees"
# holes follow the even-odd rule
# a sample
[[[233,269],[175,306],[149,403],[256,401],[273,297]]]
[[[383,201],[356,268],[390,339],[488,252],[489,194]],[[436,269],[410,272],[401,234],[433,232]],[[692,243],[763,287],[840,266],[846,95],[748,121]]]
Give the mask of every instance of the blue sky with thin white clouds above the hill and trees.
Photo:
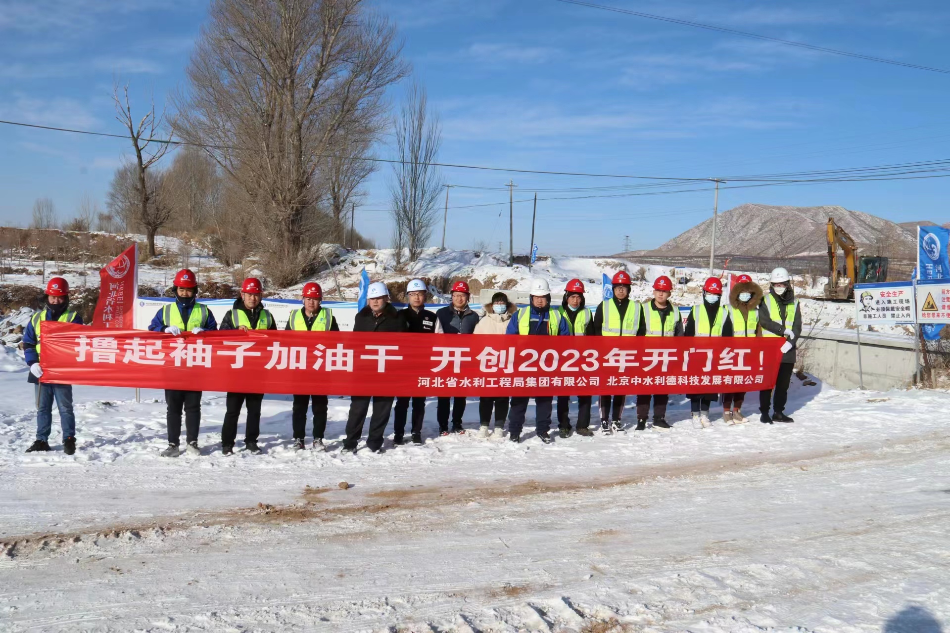
[[[843,0],[631,2],[627,9],[749,30],[904,62],[950,67],[944,2]],[[405,40],[415,78],[443,124],[444,162],[587,173],[723,177],[950,157],[950,75],[874,64],[555,0],[376,0]],[[120,132],[114,77],[142,103],[165,102],[206,5],[186,0],[6,0],[0,11],[0,119]],[[394,103],[404,86],[391,92]],[[0,221],[28,222],[52,197],[61,217],[85,193],[103,200],[127,148],[0,126]],[[388,158],[383,145],[378,156]],[[390,239],[389,168],[368,182],[356,224]],[[539,192],[542,252],[652,248],[705,219],[710,192],[553,191],[629,180],[445,170],[447,246],[507,249],[507,192]],[[895,221],[947,217],[942,178],[725,189],[743,202],[839,204]],[[644,193],[644,192],[638,192]],[[597,195],[601,197],[580,197]],[[602,197],[615,195],[614,197]],[[574,197],[575,199],[552,199]],[[531,204],[515,205],[526,251]],[[433,244],[441,238],[441,225]]]

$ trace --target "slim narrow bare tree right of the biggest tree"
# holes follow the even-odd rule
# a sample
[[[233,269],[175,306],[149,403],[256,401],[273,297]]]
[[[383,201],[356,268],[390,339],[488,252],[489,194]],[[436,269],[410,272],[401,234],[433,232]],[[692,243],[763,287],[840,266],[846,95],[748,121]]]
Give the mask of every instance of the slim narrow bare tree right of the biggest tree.
[[[390,184],[392,218],[409,250],[409,261],[419,259],[438,219],[436,207],[443,180],[432,165],[442,145],[442,126],[428,111],[425,88],[413,84],[395,121],[396,154]]]

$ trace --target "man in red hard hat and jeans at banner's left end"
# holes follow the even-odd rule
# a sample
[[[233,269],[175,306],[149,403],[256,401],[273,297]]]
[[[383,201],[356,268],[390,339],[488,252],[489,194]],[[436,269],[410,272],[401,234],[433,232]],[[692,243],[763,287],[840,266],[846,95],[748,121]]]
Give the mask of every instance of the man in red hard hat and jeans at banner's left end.
[[[36,441],[27,453],[49,450],[49,433],[53,426],[53,400],[60,412],[63,427],[63,452],[76,452],[76,414],[72,409],[72,385],[40,382],[43,367],[40,366],[40,330],[44,321],[83,324],[78,312],[69,309],[69,284],[63,277],[53,277],[47,283],[46,305],[33,312],[27,331],[23,334],[23,358],[29,365],[27,381],[36,385]]]

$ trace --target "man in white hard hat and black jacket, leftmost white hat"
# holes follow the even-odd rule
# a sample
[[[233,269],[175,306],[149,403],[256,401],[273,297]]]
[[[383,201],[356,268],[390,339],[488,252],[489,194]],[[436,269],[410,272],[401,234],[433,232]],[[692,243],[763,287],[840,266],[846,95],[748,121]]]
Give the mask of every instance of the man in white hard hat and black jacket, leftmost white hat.
[[[356,313],[353,319],[354,332],[405,332],[406,322],[399,316],[399,312],[390,304],[390,290],[386,284],[375,282],[370,284],[366,293],[366,307]],[[370,410],[372,400],[372,417],[370,431],[367,433],[366,446],[372,453],[383,452],[383,436],[386,425],[390,422],[392,410],[392,396],[351,396],[350,416],[347,419],[347,438],[343,441],[344,453],[355,453],[359,438],[363,435],[363,424],[366,414]]]

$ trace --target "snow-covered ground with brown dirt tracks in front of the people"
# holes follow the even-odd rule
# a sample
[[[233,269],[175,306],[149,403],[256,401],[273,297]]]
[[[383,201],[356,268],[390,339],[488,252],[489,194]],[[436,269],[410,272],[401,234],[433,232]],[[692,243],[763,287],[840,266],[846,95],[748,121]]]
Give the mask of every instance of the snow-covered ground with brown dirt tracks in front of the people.
[[[339,455],[348,400],[330,451],[296,453],[290,402],[268,399],[265,454],[224,457],[209,393],[203,454],[162,459],[161,392],[76,387],[77,454],[54,414],[55,452],[26,455],[32,390],[9,360],[3,630],[950,626],[950,394],[793,379],[793,424],[695,429],[679,397],[669,432],[550,446],[530,421],[519,445],[436,438],[429,400],[425,445],[355,456]]]

